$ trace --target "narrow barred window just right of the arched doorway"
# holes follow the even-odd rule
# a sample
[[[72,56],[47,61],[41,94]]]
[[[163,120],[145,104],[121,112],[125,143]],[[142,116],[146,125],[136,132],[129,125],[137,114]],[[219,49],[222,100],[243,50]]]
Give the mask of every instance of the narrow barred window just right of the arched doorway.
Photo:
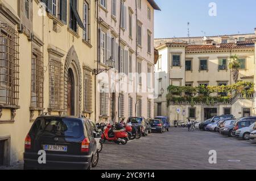
[[[92,111],[92,73],[84,70],[84,112]]]

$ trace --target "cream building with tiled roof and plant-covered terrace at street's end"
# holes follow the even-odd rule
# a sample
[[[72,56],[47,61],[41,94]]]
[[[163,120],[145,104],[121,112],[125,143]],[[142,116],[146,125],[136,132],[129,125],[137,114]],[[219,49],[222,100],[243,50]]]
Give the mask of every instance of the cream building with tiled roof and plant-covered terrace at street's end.
[[[218,86],[234,83],[228,68],[229,57],[237,54],[241,62],[238,81],[255,82],[254,34],[213,37],[190,37],[155,40],[159,60],[155,66],[155,89],[159,97],[155,101],[155,115],[168,115],[172,121],[203,121],[214,115],[232,113],[236,117],[255,115],[254,98],[237,95],[231,102],[195,104],[171,102],[167,107],[166,94],[169,85]],[[162,91],[161,91],[162,90]],[[177,111],[177,110],[180,110]]]

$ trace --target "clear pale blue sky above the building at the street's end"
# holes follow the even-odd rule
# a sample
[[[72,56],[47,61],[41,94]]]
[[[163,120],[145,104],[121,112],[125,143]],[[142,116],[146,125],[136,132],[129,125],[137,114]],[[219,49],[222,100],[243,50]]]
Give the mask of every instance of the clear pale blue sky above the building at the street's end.
[[[254,33],[255,0],[155,0],[155,38]],[[209,3],[217,5],[217,16],[209,16]]]

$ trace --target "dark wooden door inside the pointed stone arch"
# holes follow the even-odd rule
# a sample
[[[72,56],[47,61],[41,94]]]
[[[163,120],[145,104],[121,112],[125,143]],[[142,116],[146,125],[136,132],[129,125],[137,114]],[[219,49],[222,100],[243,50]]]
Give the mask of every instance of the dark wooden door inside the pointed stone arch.
[[[75,116],[75,77],[72,69],[68,69],[67,113],[69,116]]]

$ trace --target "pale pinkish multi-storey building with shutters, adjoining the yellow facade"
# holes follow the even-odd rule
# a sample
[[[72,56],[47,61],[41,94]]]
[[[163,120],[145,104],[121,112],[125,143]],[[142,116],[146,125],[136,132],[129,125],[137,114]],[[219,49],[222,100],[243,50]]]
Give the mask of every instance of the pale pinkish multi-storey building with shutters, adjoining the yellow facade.
[[[97,120],[154,116],[154,10],[151,0],[100,1],[98,68],[115,65],[97,75]]]

